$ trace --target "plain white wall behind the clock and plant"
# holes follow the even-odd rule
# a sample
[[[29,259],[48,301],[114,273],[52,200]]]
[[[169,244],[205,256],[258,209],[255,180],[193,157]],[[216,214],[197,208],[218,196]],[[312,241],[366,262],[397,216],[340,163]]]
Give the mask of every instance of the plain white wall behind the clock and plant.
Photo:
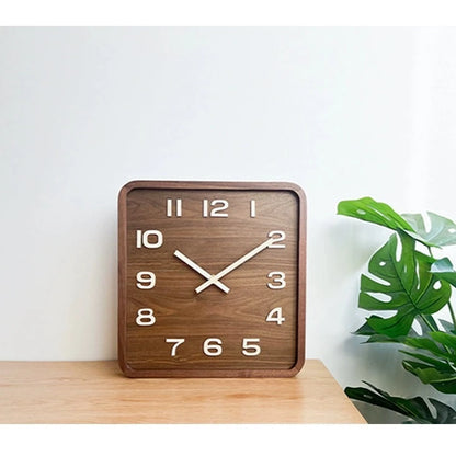
[[[116,356],[116,197],[133,179],[286,180],[308,197],[307,356],[437,397],[351,335],[372,195],[456,218],[454,29],[0,30],[0,358]]]

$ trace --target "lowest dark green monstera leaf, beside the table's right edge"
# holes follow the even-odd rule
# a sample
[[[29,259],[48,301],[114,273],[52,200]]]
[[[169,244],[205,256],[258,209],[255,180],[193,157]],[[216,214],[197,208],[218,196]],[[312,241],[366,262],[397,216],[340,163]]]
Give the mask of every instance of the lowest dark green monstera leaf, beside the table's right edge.
[[[449,406],[430,398],[429,401],[432,408],[428,406],[422,397],[414,397],[404,399],[396,396],[390,396],[386,391],[364,381],[369,388],[345,388],[345,394],[349,398],[372,403],[374,406],[383,407],[392,410],[404,417],[408,417],[414,423],[420,424],[456,424],[456,411]]]

